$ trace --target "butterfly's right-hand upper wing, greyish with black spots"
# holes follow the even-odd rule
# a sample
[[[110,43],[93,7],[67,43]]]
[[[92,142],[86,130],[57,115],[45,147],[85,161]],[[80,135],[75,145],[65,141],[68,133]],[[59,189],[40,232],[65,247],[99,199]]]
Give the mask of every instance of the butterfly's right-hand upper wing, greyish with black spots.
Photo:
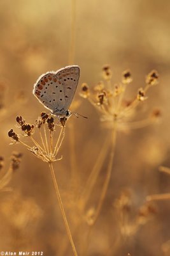
[[[76,65],[67,66],[57,71],[57,79],[61,82],[64,91],[63,108],[67,111],[73,100],[78,80],[80,77],[80,67]]]

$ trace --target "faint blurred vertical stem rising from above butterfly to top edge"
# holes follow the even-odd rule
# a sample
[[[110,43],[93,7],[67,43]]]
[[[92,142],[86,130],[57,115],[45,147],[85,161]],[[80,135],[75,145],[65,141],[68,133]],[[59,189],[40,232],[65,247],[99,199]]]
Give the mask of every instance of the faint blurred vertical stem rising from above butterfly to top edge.
[[[69,65],[74,64],[76,38],[76,0],[71,0],[71,38],[69,48]]]

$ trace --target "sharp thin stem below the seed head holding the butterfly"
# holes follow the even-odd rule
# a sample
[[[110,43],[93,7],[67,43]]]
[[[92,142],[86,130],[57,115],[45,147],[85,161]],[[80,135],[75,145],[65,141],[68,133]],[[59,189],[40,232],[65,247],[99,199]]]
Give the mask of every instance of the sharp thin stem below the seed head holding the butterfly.
[[[63,220],[64,220],[64,224],[66,226],[66,230],[67,230],[67,235],[69,237],[69,241],[71,243],[71,246],[73,248],[73,253],[74,253],[74,256],[77,256],[77,253],[76,253],[76,248],[74,246],[74,242],[73,242],[73,238],[71,236],[71,232],[70,232],[70,229],[69,229],[69,224],[67,222],[67,218],[66,218],[66,214],[65,214],[65,211],[64,211],[64,207],[62,205],[62,200],[61,200],[61,197],[60,197],[60,192],[59,192],[59,187],[57,185],[57,180],[55,179],[55,173],[54,173],[54,170],[53,170],[53,164],[52,162],[49,163],[49,166],[50,166],[50,171],[51,171],[51,174],[52,174],[52,179],[53,179],[53,184],[54,184],[54,187],[55,187],[55,192],[56,192],[56,195],[57,195],[57,199],[58,199],[58,202],[59,202],[59,206],[60,206],[60,210],[62,212],[62,217],[63,217]]]

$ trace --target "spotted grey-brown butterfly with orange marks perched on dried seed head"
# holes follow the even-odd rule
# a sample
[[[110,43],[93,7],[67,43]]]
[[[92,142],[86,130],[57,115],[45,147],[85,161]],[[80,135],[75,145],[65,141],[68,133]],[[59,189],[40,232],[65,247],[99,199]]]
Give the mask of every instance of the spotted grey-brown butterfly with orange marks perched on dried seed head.
[[[71,65],[56,72],[46,72],[34,84],[33,94],[55,116],[69,117],[72,113],[69,106],[73,100],[80,67]]]

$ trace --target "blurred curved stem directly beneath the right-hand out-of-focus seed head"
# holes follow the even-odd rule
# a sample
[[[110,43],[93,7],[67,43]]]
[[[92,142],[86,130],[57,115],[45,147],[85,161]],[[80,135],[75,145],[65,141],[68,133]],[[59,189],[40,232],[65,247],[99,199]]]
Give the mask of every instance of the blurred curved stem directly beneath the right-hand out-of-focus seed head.
[[[108,190],[108,185],[110,182],[110,177],[111,177],[111,171],[112,171],[112,166],[113,166],[113,158],[115,155],[115,145],[116,145],[116,135],[117,135],[117,124],[115,121],[114,127],[113,127],[113,131],[112,131],[112,141],[111,141],[111,152],[110,152],[110,160],[108,163],[108,169],[107,169],[107,173],[106,173],[106,179],[104,180],[104,184],[103,184],[103,188],[101,191],[101,196],[99,198],[99,203],[97,205],[97,209],[95,211],[95,215],[92,221],[92,225],[94,225],[94,223],[96,222],[100,212],[101,212],[101,208],[103,206],[103,202],[104,202],[104,198],[106,196],[106,192]]]

